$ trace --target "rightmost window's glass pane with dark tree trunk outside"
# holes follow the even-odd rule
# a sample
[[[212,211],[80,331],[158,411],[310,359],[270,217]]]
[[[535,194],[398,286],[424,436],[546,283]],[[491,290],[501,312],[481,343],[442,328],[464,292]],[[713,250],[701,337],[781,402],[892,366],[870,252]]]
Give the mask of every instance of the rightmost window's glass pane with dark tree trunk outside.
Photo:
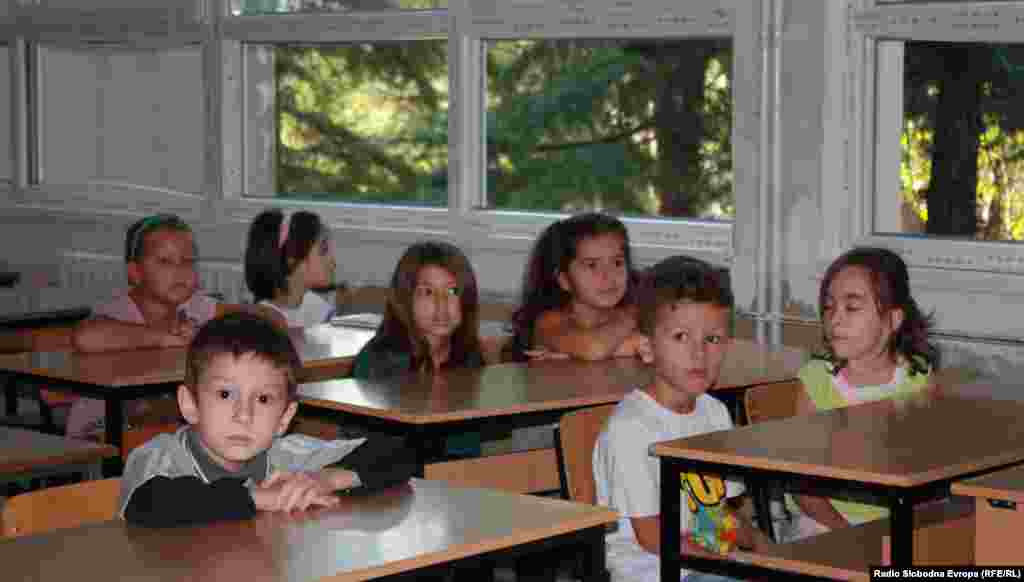
[[[880,86],[876,232],[1024,239],[1024,44],[881,45],[880,58],[902,46],[902,98],[887,106]]]

